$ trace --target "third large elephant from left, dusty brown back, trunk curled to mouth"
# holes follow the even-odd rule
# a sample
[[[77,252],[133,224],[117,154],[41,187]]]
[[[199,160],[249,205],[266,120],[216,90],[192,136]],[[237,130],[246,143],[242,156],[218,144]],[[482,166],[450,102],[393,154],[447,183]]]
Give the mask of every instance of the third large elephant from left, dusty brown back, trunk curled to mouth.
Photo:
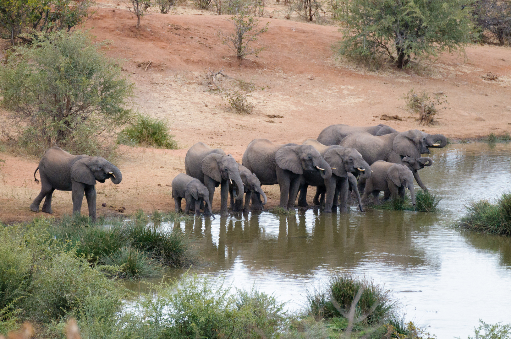
[[[280,207],[284,209],[294,207],[304,171],[318,172],[323,179],[332,176],[329,164],[314,147],[296,143],[278,145],[268,139],[250,141],[243,153],[243,166],[259,178],[261,185],[280,186]],[[252,208],[257,209],[259,200],[254,198],[252,195]]]

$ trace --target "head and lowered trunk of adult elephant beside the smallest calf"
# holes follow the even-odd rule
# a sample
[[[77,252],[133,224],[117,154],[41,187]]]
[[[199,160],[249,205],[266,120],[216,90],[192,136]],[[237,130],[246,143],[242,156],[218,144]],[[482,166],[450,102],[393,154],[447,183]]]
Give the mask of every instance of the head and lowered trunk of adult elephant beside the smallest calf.
[[[234,181],[234,199],[243,198],[243,182],[238,171],[238,163],[232,156],[211,153],[202,159],[201,164],[202,173],[216,182],[222,182],[223,180]]]

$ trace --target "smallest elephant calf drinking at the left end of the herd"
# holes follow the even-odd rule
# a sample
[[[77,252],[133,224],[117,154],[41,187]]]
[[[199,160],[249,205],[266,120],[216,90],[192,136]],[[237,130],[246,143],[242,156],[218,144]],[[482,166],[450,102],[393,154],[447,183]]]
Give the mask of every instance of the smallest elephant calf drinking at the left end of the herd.
[[[204,186],[199,179],[192,178],[184,173],[178,174],[174,180],[172,180],[172,197],[174,198],[174,204],[176,206],[176,212],[182,212],[181,199],[184,198],[186,206],[184,207],[184,213],[190,212],[190,208],[194,206],[195,215],[199,215],[200,203],[204,203],[204,210],[207,208],[211,215],[210,203],[210,191]],[[215,215],[213,215],[215,219]]]

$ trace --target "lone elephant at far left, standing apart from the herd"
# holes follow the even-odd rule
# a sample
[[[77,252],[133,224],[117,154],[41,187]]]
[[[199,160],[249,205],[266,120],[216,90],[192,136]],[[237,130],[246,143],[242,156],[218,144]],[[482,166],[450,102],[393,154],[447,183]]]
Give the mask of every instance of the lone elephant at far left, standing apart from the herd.
[[[121,170],[104,158],[72,155],[58,147],[52,147],[42,156],[34,172],[34,179],[39,182],[35,177],[37,170],[41,177],[41,192],[30,205],[32,211],[38,212],[45,198],[41,211],[53,213],[52,195],[57,189],[72,191],[73,213],[80,214],[85,192],[89,216],[93,222],[96,222],[96,180],[104,183],[110,179],[118,185],[123,179]]]

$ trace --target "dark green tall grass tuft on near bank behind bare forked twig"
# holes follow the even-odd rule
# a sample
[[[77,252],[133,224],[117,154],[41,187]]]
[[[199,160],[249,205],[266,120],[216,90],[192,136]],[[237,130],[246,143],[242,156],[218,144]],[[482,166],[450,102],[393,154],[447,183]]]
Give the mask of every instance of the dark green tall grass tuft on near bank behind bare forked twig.
[[[360,294],[358,302],[355,300]],[[366,325],[382,323],[397,309],[397,302],[390,291],[374,281],[350,274],[337,274],[330,278],[323,292],[307,296],[308,313],[322,319],[349,318],[350,308],[355,307],[355,319]]]

